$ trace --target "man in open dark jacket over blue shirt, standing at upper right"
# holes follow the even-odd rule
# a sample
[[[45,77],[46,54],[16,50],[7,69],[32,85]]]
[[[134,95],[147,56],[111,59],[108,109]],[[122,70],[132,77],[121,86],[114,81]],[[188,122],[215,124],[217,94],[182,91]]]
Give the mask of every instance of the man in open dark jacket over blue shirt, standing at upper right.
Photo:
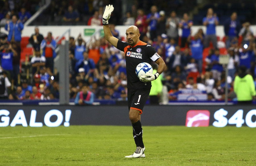
[[[230,48],[230,43],[234,38],[238,38],[241,29],[240,21],[237,19],[236,12],[233,12],[224,23],[224,32],[226,36],[226,48]]]

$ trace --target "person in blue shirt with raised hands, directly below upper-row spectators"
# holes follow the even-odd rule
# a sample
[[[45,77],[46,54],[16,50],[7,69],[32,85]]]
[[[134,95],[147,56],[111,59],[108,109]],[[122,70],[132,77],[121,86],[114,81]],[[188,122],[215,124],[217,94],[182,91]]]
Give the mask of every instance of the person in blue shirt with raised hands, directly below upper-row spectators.
[[[191,36],[188,37],[190,43],[191,57],[195,59],[198,71],[202,72],[203,66],[203,37],[200,33],[196,33],[194,39],[191,40]]]

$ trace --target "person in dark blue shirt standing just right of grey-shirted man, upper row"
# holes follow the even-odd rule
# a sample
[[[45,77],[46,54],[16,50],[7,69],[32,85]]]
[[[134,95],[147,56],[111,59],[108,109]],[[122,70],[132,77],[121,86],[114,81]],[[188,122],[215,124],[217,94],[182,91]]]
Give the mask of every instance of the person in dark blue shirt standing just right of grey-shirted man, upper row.
[[[181,48],[185,47],[185,44],[188,44],[187,38],[190,35],[191,26],[193,25],[193,21],[189,20],[188,14],[183,14],[183,19],[179,23],[179,28],[182,29],[181,35]]]

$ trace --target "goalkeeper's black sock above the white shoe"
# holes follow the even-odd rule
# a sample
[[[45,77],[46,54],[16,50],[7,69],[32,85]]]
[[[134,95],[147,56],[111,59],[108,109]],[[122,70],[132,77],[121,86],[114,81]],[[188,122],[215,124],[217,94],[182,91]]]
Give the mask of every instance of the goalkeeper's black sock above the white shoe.
[[[144,144],[142,141],[142,126],[141,126],[141,121],[138,120],[138,122],[133,123],[133,137],[136,146],[140,146],[141,148],[144,148]]]

